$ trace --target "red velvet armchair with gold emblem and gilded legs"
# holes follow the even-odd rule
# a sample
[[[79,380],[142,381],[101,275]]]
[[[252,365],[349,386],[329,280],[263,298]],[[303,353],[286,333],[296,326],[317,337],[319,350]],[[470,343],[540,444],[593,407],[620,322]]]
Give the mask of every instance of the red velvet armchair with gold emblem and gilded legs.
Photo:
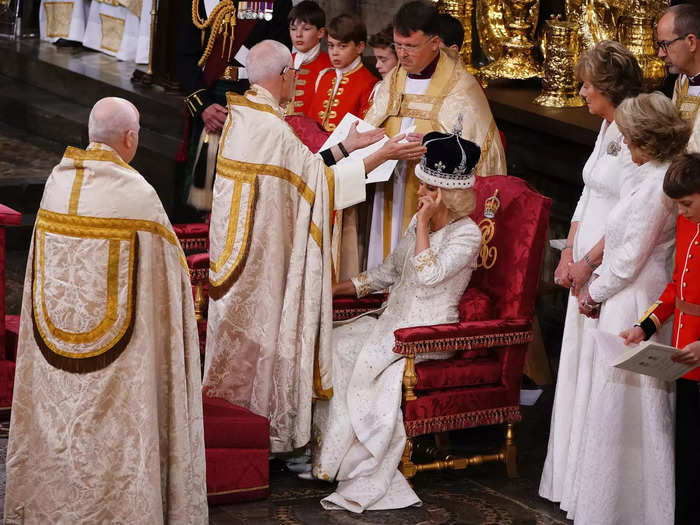
[[[406,358],[403,414],[407,442],[401,471],[461,469],[500,461],[517,476],[513,423],[521,419],[520,384],[544,253],[550,199],[516,177],[477,177],[477,207],[483,245],[478,268],[453,324],[403,328],[394,332],[394,352]],[[376,308],[383,297],[334,301],[334,317],[347,319]],[[452,359],[415,363],[425,352],[456,351]],[[416,464],[413,438],[449,430],[505,424],[500,452],[468,458],[441,456]],[[438,448],[440,443],[438,443]],[[433,450],[433,452],[435,452]]]

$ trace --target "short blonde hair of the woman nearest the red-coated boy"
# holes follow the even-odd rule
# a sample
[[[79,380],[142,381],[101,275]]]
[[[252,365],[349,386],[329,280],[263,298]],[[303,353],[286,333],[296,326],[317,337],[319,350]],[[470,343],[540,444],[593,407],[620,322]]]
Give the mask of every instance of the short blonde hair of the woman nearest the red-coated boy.
[[[615,110],[615,122],[631,145],[658,161],[681,153],[690,138],[690,126],[659,91],[623,100]]]

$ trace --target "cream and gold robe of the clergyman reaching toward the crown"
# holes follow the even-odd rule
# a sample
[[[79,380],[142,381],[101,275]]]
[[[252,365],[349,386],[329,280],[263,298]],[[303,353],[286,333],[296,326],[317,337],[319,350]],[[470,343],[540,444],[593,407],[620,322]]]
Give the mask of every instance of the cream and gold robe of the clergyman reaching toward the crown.
[[[264,88],[227,94],[209,233],[204,392],[270,420],[272,452],[306,445],[332,395],[333,208],[365,198],[362,161],[327,168]]]

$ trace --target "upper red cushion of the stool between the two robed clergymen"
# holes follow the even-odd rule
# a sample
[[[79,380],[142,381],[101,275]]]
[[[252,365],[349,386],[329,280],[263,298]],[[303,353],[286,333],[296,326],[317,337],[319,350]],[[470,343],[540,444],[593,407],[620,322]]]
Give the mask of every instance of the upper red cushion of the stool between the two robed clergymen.
[[[270,448],[267,418],[224,399],[203,396],[205,448]]]

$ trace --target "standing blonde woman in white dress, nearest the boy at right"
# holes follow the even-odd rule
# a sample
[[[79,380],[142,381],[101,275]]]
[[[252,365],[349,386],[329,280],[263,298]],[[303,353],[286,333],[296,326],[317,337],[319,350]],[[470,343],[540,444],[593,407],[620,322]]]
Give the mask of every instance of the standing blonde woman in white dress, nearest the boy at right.
[[[690,128],[659,92],[623,101],[615,117],[639,168],[608,215],[603,262],[579,303],[588,315],[600,308],[599,330],[619,334],[644,315],[671,276],[676,207],[663,179]],[[670,328],[652,339],[669,344]],[[621,339],[611,350],[623,349]],[[674,384],[611,367],[609,351],[592,344],[593,381],[569,517],[586,525],[671,525]]]

